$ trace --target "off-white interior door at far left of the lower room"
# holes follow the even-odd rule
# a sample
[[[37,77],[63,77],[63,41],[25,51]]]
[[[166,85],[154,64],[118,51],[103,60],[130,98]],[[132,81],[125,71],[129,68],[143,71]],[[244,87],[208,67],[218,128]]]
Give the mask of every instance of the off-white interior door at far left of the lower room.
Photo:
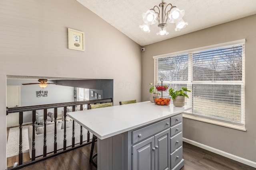
[[[20,86],[6,87],[6,105],[7,107],[20,106]],[[19,113],[10,113],[6,116],[6,126],[14,127],[19,125]]]

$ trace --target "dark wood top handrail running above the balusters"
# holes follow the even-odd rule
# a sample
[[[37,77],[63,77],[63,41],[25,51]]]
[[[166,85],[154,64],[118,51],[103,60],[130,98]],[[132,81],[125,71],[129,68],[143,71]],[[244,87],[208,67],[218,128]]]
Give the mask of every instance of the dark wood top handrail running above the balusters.
[[[57,103],[57,104],[44,104],[36,106],[23,106],[23,107],[6,107],[6,115],[9,113],[23,112],[23,111],[32,111],[32,110],[41,110],[41,109],[50,109],[54,107],[65,107],[65,106],[76,106],[81,104],[94,104],[94,103],[106,103],[112,102],[112,98],[109,99],[100,99],[100,100],[87,100],[79,102],[66,102],[66,103]]]

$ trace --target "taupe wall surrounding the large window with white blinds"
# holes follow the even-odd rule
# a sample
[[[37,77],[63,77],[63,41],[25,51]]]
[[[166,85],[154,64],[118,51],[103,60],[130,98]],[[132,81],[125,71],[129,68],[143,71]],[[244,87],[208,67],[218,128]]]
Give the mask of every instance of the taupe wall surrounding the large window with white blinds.
[[[142,53],[142,101],[149,99],[150,86],[148,84],[154,82],[153,56],[245,38],[245,123],[247,131],[184,118],[183,137],[256,162],[255,30],[256,15],[253,15],[145,46],[146,50]]]

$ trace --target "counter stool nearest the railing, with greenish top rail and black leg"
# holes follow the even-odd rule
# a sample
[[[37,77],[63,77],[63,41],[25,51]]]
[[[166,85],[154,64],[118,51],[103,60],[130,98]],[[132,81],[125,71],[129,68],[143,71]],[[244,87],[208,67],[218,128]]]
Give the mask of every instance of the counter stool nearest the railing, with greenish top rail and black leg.
[[[87,109],[96,109],[96,108],[102,108],[102,107],[110,107],[113,106],[112,102],[109,103],[102,103],[102,104],[94,104],[94,105],[88,105]],[[93,150],[94,150],[94,145],[95,142],[97,141],[97,137],[92,134],[92,147],[91,147],[91,152],[90,152],[90,159],[89,162],[91,162],[96,168],[97,164],[93,161],[93,158],[97,156],[97,153],[93,155]]]

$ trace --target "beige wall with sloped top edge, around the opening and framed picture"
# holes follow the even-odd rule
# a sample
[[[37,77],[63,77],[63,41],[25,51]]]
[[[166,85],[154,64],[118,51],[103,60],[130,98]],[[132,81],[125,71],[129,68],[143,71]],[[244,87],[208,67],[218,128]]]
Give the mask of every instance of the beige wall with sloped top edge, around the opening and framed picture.
[[[112,79],[114,105],[141,101],[140,45],[79,2],[1,0],[0,7],[0,170],[6,168],[6,75]],[[84,32],[85,51],[68,49],[68,28]]]

